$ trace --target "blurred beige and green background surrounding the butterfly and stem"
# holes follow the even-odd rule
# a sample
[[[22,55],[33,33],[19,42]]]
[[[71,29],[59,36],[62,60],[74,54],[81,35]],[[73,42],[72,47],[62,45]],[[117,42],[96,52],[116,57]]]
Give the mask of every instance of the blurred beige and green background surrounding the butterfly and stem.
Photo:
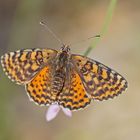
[[[1,0],[0,55],[22,48],[54,48],[60,43],[42,26],[45,21],[64,43],[100,32],[110,0]],[[113,100],[93,102],[67,118],[63,112],[46,122],[47,107],[30,102],[24,87],[0,66],[0,140],[139,140],[140,1],[118,0],[108,32],[89,57],[121,73],[128,90]],[[73,44],[84,54],[91,40]]]

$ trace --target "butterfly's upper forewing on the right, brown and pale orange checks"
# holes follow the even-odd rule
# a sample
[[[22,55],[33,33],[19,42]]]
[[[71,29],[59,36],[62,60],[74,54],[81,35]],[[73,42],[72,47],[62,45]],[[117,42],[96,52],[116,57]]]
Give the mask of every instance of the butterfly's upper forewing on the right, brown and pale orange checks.
[[[76,67],[88,94],[93,99],[113,98],[127,88],[125,78],[95,60],[81,55],[72,55],[71,61]]]

